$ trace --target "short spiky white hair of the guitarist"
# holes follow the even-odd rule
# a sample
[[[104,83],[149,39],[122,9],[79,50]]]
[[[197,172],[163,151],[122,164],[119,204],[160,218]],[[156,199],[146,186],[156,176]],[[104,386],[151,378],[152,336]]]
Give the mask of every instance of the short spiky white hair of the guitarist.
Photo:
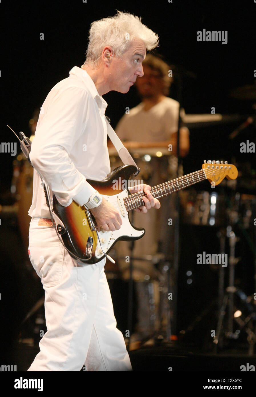
[[[114,17],[94,21],[90,25],[85,63],[93,62],[96,66],[105,46],[111,46],[115,56],[121,56],[128,49],[131,40],[136,38],[144,42],[148,51],[158,45],[158,35],[141,23],[141,17],[128,12],[117,10]]]

